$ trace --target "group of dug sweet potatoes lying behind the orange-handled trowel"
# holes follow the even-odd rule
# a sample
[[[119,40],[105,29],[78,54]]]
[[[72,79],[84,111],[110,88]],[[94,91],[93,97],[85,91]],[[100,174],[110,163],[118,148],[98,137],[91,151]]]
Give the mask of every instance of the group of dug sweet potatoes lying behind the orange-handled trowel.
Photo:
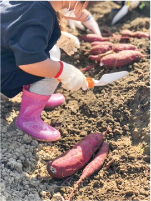
[[[144,32],[133,33],[129,30],[122,32],[123,36],[137,36],[147,37],[149,34]],[[101,66],[106,68],[119,68],[126,66],[134,61],[139,61],[145,56],[141,50],[130,43],[114,44],[110,42],[110,37],[102,37],[95,34],[82,35],[81,40],[91,42],[91,49],[89,50],[89,58],[100,63]]]

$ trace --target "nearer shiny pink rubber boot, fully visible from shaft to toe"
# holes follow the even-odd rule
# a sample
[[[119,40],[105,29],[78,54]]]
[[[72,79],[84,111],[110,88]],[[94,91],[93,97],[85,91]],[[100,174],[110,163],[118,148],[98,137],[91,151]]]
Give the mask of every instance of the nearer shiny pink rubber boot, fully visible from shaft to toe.
[[[49,98],[50,96],[29,92],[29,86],[23,89],[21,110],[16,126],[38,141],[51,142],[60,138],[60,132],[46,124],[40,117]]]

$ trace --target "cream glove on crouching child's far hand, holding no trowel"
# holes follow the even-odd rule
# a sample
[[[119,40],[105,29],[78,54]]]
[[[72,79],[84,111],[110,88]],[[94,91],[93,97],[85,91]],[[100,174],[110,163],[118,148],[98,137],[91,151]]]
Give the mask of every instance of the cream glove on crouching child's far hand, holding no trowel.
[[[76,36],[73,36],[65,31],[61,31],[61,37],[58,40],[57,45],[68,55],[72,55],[77,52],[77,49],[80,47],[80,42]]]

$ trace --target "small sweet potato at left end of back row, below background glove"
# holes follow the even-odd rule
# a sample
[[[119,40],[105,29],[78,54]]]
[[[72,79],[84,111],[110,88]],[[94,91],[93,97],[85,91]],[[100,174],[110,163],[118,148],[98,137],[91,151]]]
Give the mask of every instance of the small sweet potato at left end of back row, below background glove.
[[[94,42],[94,41],[109,41],[109,38],[102,37],[97,34],[84,34],[80,36],[80,40],[85,42]]]

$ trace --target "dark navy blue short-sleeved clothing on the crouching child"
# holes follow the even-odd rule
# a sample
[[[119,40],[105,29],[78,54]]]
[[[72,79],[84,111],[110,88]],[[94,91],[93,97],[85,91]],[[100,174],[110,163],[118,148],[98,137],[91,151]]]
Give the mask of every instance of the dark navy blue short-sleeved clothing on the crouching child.
[[[42,77],[18,66],[44,61],[61,35],[47,0],[0,0],[0,92],[13,97]]]

